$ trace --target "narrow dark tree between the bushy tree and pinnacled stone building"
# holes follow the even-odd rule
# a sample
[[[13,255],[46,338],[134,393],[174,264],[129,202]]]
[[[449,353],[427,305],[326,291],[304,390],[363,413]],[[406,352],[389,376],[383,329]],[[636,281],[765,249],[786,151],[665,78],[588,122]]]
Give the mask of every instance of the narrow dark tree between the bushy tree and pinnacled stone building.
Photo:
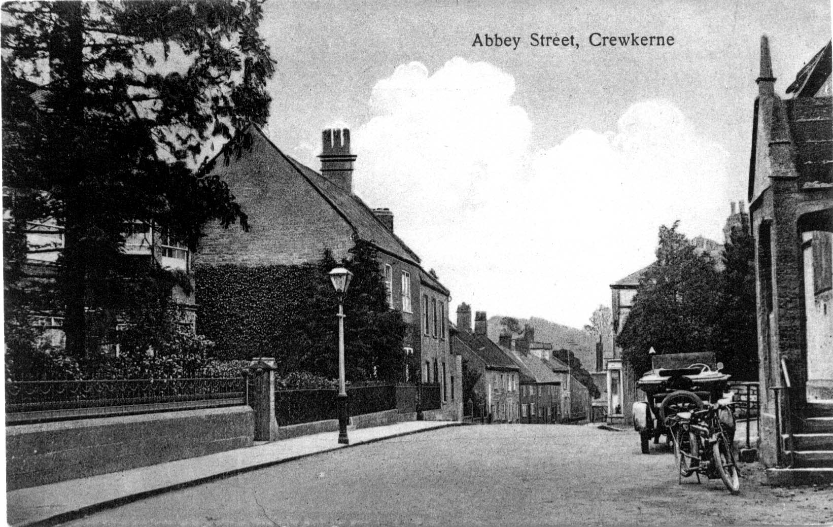
[[[755,241],[735,226],[723,253],[723,286],[717,317],[716,356],[734,380],[758,380]]]

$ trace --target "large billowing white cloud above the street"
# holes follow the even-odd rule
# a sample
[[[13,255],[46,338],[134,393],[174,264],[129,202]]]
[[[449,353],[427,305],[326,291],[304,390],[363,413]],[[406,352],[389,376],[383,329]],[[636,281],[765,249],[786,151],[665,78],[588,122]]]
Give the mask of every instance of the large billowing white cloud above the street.
[[[581,326],[611,281],[651,261],[661,223],[720,235],[726,152],[671,102],[533,151],[514,92],[486,62],[411,62],[373,87],[354,134],[357,193],[391,207],[452,306]]]

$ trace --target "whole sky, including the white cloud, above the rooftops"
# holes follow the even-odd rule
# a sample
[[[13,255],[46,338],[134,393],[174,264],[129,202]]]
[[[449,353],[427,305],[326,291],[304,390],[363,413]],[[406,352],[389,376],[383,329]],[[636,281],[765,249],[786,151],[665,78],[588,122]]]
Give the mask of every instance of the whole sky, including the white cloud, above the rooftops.
[[[581,327],[659,226],[723,241],[746,201],[760,39],[776,91],[831,38],[828,1],[267,2],[266,132],[316,170],[347,127],[353,189],[489,316]],[[672,36],[593,47],[600,35]],[[531,33],[578,47],[532,47]],[[520,37],[515,48],[472,46]],[[598,37],[595,37],[598,41]]]

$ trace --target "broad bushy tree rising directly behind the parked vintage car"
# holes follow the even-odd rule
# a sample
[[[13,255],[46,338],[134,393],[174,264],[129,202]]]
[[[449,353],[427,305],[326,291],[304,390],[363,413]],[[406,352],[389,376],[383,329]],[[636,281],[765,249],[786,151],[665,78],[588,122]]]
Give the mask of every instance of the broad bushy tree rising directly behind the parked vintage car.
[[[686,236],[661,226],[656,262],[646,271],[625,326],[616,339],[634,371],[651,369],[648,351],[711,351],[718,336],[721,274],[706,252],[698,254]]]

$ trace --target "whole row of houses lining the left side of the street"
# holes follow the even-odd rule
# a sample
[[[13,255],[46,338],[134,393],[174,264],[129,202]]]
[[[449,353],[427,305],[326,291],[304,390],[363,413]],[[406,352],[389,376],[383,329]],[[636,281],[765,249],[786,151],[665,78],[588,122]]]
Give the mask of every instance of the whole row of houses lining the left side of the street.
[[[464,413],[463,360],[481,373],[475,393],[482,398],[476,405],[471,400],[466,410],[476,406],[501,422],[552,422],[586,415],[578,402],[573,402],[574,409],[570,404],[586,401],[586,388],[571,383],[566,365],[552,358],[551,346],[540,346],[527,335],[506,342],[501,337],[501,349],[488,341],[482,313],[471,332],[471,311],[465,304],[457,312],[457,325],[451,323],[448,289],[433,271],[422,268],[419,256],[397,236],[392,211],[368,207],[353,191],[357,157],[351,152],[349,130],[322,133],[320,172],[289,157],[261,128],[252,126],[248,132],[251,148],[239,157],[230,156],[227,163],[218,162],[214,169],[247,213],[248,231],[210,224],[195,253],[154,226],[137,224],[127,233],[128,255],[155,258],[161,266],[191,277],[192,287],[175,286],[173,291],[183,323],[197,333],[208,329],[197,316],[199,287],[193,283],[201,267],[306,264],[319,261],[325,251],[341,261],[361,239],[377,250],[388,305],[407,323],[402,378],[440,385],[443,417],[460,419]],[[13,189],[3,191],[13,194]],[[30,265],[54,266],[62,250],[60,227],[32,225],[28,238],[29,245],[37,247],[28,256]],[[41,318],[39,325],[47,335],[60,341],[60,317]],[[571,391],[582,395],[571,398]]]

